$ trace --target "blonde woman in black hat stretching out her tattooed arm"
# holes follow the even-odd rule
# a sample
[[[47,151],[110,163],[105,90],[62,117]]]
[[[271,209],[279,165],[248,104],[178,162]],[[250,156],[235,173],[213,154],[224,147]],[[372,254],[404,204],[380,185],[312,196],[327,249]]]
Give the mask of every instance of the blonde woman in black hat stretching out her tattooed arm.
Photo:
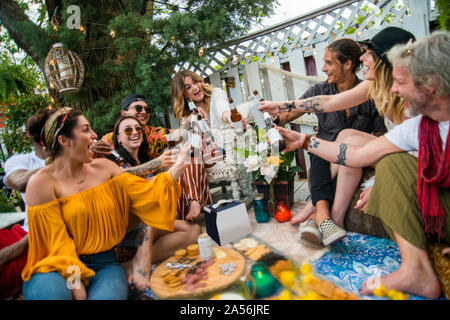
[[[286,123],[296,119],[304,112],[321,113],[345,110],[368,99],[373,99],[378,112],[381,116],[385,116],[387,122],[392,122],[394,125],[400,124],[407,118],[405,105],[400,97],[391,92],[393,83],[392,66],[385,54],[394,45],[406,43],[410,39],[415,39],[410,32],[397,27],[387,27],[370,41],[360,42],[364,52],[360,59],[365,67],[364,81],[354,88],[336,95],[320,95],[292,102],[263,101],[260,110],[276,114],[280,117],[281,123]],[[289,112],[280,114],[283,109],[288,109]],[[345,129],[341,131],[336,141],[365,145],[375,138],[375,136],[361,131]],[[345,212],[354,191],[359,186],[362,169],[332,164],[331,171],[332,177],[338,176],[331,216],[338,226],[343,227]],[[370,189],[362,193],[362,201],[356,207],[357,209],[364,209],[369,193]],[[308,203],[305,209],[291,220],[291,223],[302,222],[313,213],[314,207],[311,203]]]

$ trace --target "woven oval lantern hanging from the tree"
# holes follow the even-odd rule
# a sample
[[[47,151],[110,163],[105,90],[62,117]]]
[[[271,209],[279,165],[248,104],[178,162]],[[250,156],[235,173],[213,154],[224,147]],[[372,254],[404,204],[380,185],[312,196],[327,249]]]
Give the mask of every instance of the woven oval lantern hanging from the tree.
[[[84,79],[84,66],[80,57],[55,43],[44,62],[45,75],[58,93],[74,93],[80,90]]]

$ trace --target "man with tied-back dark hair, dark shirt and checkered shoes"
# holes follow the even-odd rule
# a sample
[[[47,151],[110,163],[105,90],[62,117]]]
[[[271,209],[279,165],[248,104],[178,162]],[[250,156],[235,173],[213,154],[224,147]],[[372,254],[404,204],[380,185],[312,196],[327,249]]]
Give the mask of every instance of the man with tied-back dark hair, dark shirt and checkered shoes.
[[[362,52],[358,44],[351,39],[339,39],[331,43],[324,53],[323,72],[328,79],[321,82],[301,97],[307,99],[304,109],[291,107],[290,112],[280,115],[281,123],[297,119],[306,112],[318,112],[315,97],[321,95],[334,95],[347,91],[358,85],[361,80],[357,78],[356,71],[361,62]],[[327,141],[334,141],[343,129],[355,130],[381,135],[386,132],[383,118],[379,115],[372,100],[367,100],[352,108],[330,113],[316,113],[319,120],[317,136]],[[333,205],[336,191],[337,168],[320,157],[310,154],[311,161],[311,202],[302,212],[291,219],[291,223],[309,220],[299,228],[301,238],[315,243],[330,245],[346,235],[345,230],[330,219],[330,210]],[[314,212],[315,207],[315,212]],[[314,213],[313,213],[314,212]]]

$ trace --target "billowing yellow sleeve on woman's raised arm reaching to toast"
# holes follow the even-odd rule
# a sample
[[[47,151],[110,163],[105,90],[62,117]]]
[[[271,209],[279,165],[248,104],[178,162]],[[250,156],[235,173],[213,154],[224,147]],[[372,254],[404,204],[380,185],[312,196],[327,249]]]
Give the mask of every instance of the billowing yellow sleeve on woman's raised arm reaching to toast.
[[[172,179],[170,170],[156,175],[151,182],[130,173],[122,175],[127,181],[130,211],[151,227],[173,231],[181,187]]]

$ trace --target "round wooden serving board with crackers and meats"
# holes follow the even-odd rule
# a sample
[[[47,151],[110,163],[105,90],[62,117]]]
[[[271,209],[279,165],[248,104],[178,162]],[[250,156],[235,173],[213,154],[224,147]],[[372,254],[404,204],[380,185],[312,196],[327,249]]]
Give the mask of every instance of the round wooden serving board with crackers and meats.
[[[208,272],[208,279],[199,281],[198,283],[206,283],[206,286],[202,288],[198,288],[194,291],[185,290],[185,285],[182,285],[178,289],[174,290],[169,288],[169,286],[164,282],[162,278],[162,274],[164,274],[168,268],[166,266],[167,262],[175,263],[176,259],[174,257],[170,257],[163,263],[161,263],[156,269],[153,271],[152,278],[150,279],[150,286],[160,299],[181,299],[181,298],[193,298],[196,296],[201,296],[209,292],[213,292],[215,290],[225,289],[233,282],[237,281],[245,272],[245,258],[234,249],[230,248],[220,248],[223,250],[227,256],[215,259],[214,264],[209,266],[206,270]],[[200,260],[198,256],[198,260],[191,263],[195,265]],[[221,273],[221,264],[235,263],[236,269],[230,275],[224,275]],[[183,274],[186,274],[184,272]]]

